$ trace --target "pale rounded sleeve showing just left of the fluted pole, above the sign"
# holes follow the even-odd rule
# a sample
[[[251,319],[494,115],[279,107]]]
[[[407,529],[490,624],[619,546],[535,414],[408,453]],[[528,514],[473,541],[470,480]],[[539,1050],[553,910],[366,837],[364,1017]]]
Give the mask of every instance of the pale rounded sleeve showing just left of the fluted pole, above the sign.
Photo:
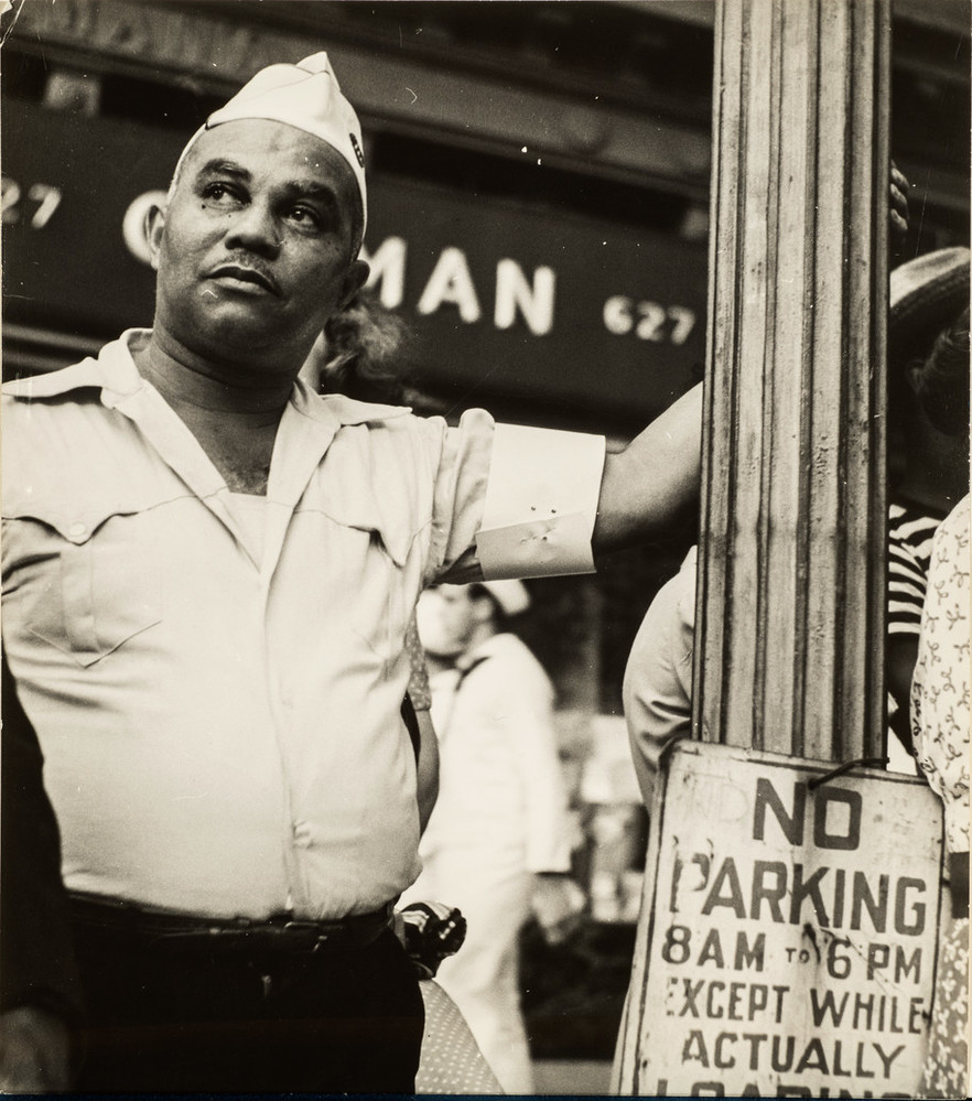
[[[692,732],[695,640],[695,559],[661,586],[631,645],[624,679],[624,712],[638,786],[649,813],[666,748]]]

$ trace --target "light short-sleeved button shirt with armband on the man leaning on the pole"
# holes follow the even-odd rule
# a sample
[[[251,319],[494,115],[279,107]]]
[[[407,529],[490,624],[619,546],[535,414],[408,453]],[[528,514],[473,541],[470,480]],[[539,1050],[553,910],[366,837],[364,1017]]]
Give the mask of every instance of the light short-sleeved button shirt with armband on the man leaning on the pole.
[[[418,594],[590,568],[603,443],[296,384],[247,522],[138,374],[144,339],[4,392],[3,641],[67,885],[213,917],[372,910],[419,868]],[[520,471],[509,494],[494,463]]]

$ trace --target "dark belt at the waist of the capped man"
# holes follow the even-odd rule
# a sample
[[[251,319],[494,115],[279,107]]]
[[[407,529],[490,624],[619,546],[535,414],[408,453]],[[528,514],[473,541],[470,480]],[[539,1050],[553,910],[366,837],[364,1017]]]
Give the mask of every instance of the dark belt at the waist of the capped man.
[[[336,921],[302,921],[290,915],[266,920],[206,918],[145,909],[93,895],[71,895],[72,919],[80,928],[133,939],[161,951],[227,951],[250,954],[310,956],[344,948],[365,948],[389,928],[392,904],[370,914]]]

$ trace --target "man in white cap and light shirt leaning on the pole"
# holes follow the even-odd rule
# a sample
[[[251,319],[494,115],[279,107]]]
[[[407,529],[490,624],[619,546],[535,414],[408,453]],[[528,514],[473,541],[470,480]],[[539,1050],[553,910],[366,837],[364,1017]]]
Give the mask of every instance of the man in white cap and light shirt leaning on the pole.
[[[403,635],[440,580],[582,572],[699,477],[693,392],[623,454],[298,378],[368,276],[325,54],[193,136],[153,327],[6,388],[3,644],[74,896],[90,1092],[409,1092]]]

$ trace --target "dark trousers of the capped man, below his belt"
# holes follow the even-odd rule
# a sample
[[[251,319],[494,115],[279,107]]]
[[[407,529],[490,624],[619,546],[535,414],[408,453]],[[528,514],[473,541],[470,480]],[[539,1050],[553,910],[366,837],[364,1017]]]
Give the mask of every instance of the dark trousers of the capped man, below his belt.
[[[262,958],[75,932],[88,1011],[79,1092],[414,1092],[424,1011],[390,931]]]

